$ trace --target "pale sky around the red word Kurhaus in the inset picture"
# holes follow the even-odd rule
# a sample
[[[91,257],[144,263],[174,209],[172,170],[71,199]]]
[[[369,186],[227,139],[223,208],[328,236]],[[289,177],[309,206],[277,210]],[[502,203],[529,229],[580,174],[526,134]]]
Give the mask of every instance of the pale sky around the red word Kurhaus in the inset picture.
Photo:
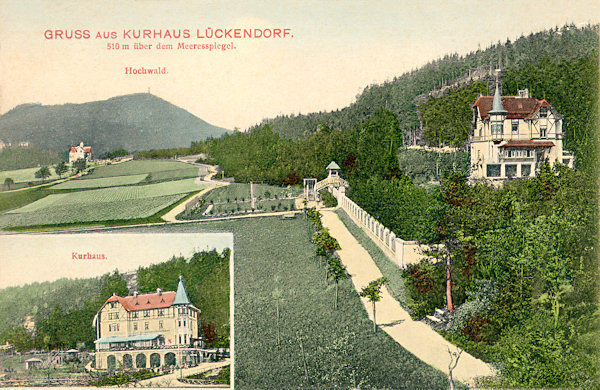
[[[231,233],[0,235],[0,289],[135,271],[195,252],[233,248]],[[81,256],[80,256],[81,255]]]

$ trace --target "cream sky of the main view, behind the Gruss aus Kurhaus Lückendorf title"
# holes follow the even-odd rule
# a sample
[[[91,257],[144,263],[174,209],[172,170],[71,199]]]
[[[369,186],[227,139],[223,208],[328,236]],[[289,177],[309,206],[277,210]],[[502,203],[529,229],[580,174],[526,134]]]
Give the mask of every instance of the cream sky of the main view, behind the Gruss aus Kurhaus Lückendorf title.
[[[280,114],[343,108],[366,86],[448,53],[565,23],[599,23],[600,1],[1,0],[0,20],[1,114],[23,103],[84,103],[150,91],[213,125],[243,130]],[[208,38],[207,28],[288,34]],[[144,29],[163,36],[124,35]],[[164,36],[186,29],[189,38]],[[90,38],[54,38],[55,30],[88,31]],[[152,48],[134,49],[135,43]],[[179,43],[235,48],[177,49]],[[129,67],[166,73],[126,74]]]

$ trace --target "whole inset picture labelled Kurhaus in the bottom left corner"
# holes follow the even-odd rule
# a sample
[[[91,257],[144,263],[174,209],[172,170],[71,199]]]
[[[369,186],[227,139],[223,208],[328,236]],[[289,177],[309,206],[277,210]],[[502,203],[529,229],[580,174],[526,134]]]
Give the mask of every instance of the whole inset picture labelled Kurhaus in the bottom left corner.
[[[214,233],[0,236],[0,386],[229,387],[232,248]]]

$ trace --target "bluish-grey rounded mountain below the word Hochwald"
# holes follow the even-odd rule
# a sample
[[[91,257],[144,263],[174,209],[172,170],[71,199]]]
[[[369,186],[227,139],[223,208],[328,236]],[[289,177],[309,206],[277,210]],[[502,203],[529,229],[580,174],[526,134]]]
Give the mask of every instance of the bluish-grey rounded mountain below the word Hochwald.
[[[96,156],[119,148],[139,151],[189,146],[226,131],[148,93],[83,104],[23,104],[0,116],[0,140],[4,142],[28,141],[64,153],[70,145],[83,141],[92,146]]]

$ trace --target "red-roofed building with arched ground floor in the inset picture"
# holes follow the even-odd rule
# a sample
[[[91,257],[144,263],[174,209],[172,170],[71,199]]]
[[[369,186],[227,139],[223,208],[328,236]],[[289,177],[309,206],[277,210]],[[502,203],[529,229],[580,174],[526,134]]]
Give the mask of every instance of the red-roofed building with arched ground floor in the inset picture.
[[[177,292],[113,295],[93,320],[96,368],[141,369],[196,365],[203,360],[200,310],[180,277]]]

